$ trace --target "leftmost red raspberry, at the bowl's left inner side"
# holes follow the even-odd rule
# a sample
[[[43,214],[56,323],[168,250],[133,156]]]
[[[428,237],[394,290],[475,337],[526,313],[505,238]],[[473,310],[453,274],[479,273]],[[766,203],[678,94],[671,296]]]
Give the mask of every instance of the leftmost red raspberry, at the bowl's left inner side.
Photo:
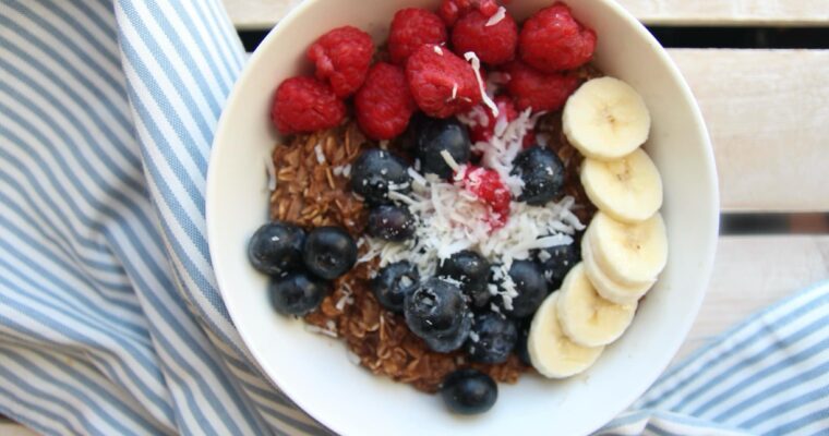
[[[283,134],[333,128],[346,118],[346,105],[331,86],[313,77],[291,77],[276,89],[271,120]]]

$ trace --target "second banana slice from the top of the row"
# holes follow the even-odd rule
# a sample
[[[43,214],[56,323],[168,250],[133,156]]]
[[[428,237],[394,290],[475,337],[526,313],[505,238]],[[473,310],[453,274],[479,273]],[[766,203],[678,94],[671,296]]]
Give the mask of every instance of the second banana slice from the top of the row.
[[[590,202],[618,221],[645,221],[662,207],[662,178],[641,148],[611,161],[585,159],[581,184]]]

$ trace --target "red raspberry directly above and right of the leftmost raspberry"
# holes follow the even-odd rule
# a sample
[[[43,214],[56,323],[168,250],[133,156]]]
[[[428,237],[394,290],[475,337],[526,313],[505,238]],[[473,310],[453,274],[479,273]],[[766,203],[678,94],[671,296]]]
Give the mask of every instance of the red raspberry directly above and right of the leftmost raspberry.
[[[308,49],[308,59],[316,64],[316,77],[328,81],[339,98],[360,88],[373,55],[371,36],[351,26],[328,32]]]

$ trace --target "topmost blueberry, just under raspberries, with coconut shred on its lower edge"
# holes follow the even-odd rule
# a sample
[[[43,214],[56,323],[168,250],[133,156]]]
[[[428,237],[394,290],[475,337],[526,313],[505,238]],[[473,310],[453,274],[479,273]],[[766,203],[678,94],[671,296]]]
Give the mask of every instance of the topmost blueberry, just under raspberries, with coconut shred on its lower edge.
[[[448,152],[458,165],[464,165],[469,161],[472,147],[467,128],[455,119],[424,120],[417,143],[422,172],[437,174],[444,180],[452,178],[453,170],[441,152]]]

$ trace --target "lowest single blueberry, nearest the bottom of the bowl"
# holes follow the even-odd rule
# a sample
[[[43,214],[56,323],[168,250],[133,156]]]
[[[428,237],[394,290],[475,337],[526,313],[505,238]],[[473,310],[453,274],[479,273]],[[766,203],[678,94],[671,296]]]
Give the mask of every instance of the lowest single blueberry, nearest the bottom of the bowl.
[[[492,409],[498,398],[498,386],[478,370],[458,370],[443,379],[441,397],[450,411],[473,415]]]

